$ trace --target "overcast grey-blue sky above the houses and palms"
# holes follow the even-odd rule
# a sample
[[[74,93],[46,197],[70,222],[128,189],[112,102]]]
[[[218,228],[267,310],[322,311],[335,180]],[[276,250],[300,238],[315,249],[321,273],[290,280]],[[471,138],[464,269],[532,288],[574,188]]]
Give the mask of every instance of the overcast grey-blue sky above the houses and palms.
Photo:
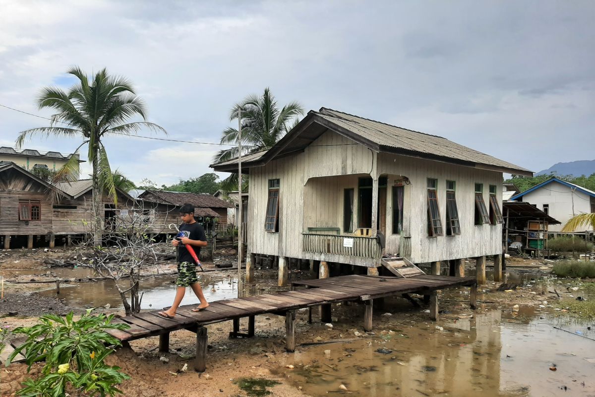
[[[171,139],[218,142],[231,106],[268,86],[280,104],[444,136],[540,171],[595,158],[594,21],[595,2],[576,0],[0,0],[0,104],[47,116],[41,87],[69,87],[70,65],[107,67],[133,80]],[[0,146],[46,125],[0,107]],[[105,144],[112,168],[159,184],[211,171],[218,149]]]

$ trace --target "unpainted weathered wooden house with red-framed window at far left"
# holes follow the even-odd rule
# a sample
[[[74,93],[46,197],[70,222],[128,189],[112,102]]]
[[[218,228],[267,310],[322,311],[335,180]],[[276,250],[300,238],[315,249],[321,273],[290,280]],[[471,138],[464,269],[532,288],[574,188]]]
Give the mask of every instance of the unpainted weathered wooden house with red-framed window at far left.
[[[78,180],[51,186],[16,164],[0,166],[0,236],[5,249],[27,246],[53,247],[58,237],[70,245],[90,232],[92,182]],[[53,196],[53,199],[52,199]],[[130,224],[134,200],[118,189],[118,204],[102,199],[104,224]],[[158,233],[159,230],[150,230]]]

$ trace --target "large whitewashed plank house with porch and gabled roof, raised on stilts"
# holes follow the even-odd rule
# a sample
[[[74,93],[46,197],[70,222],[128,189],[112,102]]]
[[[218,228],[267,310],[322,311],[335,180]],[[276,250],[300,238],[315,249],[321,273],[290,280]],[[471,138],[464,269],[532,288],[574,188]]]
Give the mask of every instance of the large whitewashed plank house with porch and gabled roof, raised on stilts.
[[[237,171],[237,159],[211,167]],[[275,255],[280,273],[287,258],[375,274],[383,254],[414,263],[500,255],[502,175],[533,175],[443,137],[326,108],[244,156],[242,171],[248,266]]]

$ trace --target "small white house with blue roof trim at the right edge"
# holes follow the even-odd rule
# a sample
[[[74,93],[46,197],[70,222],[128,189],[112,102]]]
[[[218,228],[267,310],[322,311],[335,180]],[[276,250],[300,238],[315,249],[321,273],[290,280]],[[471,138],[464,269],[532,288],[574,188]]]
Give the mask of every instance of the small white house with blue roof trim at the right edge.
[[[553,225],[549,232],[559,232],[574,215],[595,212],[595,192],[574,183],[552,177],[539,185],[511,197],[511,201],[525,201],[537,205],[562,224]],[[575,232],[593,232],[587,225]]]

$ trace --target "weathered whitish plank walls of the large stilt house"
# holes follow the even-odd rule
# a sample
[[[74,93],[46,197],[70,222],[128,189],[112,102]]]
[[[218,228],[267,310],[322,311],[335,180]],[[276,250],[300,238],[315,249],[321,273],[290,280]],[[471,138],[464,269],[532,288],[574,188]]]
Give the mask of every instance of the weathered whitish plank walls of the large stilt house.
[[[368,176],[372,153],[336,133],[325,132],[303,153],[250,168],[248,205],[249,251],[257,254],[375,265],[374,260],[303,252],[301,233],[307,227],[343,229],[343,189],[353,187],[354,223],[357,221],[358,177]],[[328,146],[334,145],[334,146]],[[502,225],[474,226],[474,184],[484,184],[489,208],[489,185],[497,186],[502,202],[502,173],[462,167],[401,155],[378,154],[378,176],[388,177],[386,230],[387,253],[399,251],[399,235],[392,235],[392,189],[395,179],[409,178],[403,202],[403,234],[411,236],[411,260],[431,262],[502,252]],[[315,179],[313,179],[315,178]],[[427,237],[427,178],[438,179],[440,217],[446,229],[446,180],[456,182],[461,221],[460,236]],[[280,179],[278,233],[265,232],[268,180]],[[380,215],[379,215],[380,217]]]

